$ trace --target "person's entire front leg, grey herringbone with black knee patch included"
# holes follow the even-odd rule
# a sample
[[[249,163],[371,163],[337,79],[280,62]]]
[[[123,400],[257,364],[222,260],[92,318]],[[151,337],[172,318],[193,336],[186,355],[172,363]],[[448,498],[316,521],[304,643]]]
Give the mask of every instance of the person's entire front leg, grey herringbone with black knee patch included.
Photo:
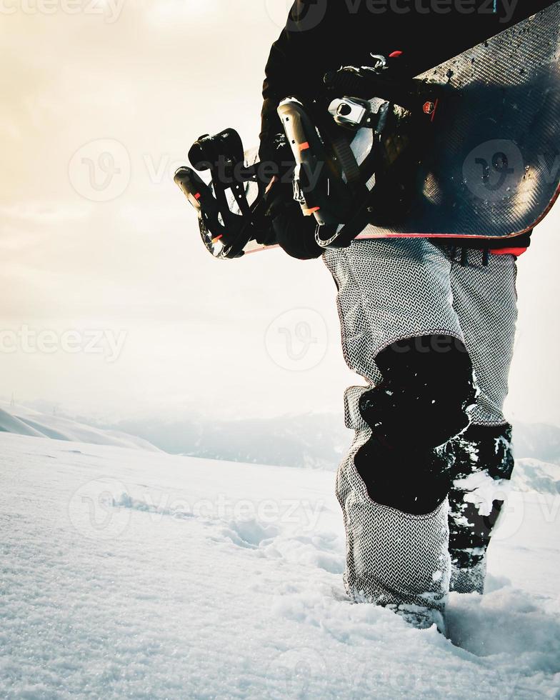
[[[419,239],[329,250],[344,356],[369,386],[346,392],[354,443],[337,474],[346,590],[415,620],[449,589],[446,443],[474,386],[451,294],[451,261]]]

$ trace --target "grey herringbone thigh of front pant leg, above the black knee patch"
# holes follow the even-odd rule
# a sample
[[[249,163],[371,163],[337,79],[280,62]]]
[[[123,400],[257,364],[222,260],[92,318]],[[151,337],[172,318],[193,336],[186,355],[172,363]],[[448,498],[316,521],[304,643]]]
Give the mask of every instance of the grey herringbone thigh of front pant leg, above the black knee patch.
[[[338,289],[344,359],[370,386],[383,380],[376,356],[395,341],[429,334],[463,340],[451,260],[429,241],[354,241],[323,259]]]

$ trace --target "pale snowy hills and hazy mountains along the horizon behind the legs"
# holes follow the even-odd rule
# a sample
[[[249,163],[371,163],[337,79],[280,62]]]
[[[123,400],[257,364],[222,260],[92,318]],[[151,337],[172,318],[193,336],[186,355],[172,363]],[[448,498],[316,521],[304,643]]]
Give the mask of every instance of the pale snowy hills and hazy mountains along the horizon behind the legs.
[[[351,442],[351,431],[336,414],[239,421],[151,417],[121,421],[116,426],[91,426],[86,420],[0,401],[0,431],[221,461],[334,471]],[[560,494],[560,428],[517,424],[515,444],[514,489]]]

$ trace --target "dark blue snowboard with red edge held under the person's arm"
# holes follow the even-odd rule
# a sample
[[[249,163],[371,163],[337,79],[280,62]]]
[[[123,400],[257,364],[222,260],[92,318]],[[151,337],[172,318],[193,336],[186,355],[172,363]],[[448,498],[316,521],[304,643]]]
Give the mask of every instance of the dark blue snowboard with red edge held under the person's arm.
[[[508,238],[544,219],[560,194],[559,30],[556,2],[416,77],[426,94],[439,97],[424,104],[431,134],[414,166],[407,206],[381,221],[370,207],[369,224],[360,224],[361,232],[356,236],[354,231],[346,244],[354,238]],[[244,154],[250,173],[241,187],[251,206],[262,194],[251,170],[258,164],[257,153],[254,148]],[[201,202],[211,202],[211,184],[198,201],[203,185],[199,179],[193,185],[193,176],[189,169],[179,169],[175,181],[198,210],[204,245],[214,257],[277,247],[251,240],[232,255],[206,226],[209,218]],[[240,193],[228,191],[225,196],[241,218]],[[214,221],[223,224],[216,216]],[[318,242],[325,244],[321,228]],[[334,238],[329,236],[329,241],[336,246]]]

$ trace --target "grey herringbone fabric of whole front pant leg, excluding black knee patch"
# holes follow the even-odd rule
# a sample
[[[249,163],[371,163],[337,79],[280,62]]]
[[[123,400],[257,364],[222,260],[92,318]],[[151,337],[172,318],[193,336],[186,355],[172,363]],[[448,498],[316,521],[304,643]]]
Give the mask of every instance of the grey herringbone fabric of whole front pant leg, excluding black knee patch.
[[[338,288],[346,362],[369,387],[383,380],[376,357],[395,341],[430,334],[462,340],[451,261],[429,241],[354,241],[348,249],[326,251],[324,261]],[[356,601],[441,611],[450,575],[448,504],[445,499],[430,513],[412,515],[369,496],[355,463],[371,438],[359,409],[369,387],[346,391],[346,424],[355,436],[336,479],[346,529],[346,590]]]

